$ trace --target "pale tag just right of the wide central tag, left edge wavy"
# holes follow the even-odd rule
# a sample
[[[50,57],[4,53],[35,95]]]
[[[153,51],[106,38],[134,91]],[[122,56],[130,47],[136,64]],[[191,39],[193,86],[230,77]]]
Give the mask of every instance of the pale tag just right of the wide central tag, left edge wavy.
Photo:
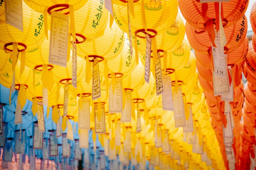
[[[121,113],[121,123],[131,122],[131,91],[125,92],[125,108]]]

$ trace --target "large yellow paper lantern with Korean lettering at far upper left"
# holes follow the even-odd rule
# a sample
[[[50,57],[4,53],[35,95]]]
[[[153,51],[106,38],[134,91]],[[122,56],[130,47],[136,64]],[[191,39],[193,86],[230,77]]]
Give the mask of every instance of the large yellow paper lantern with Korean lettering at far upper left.
[[[24,2],[23,10],[23,32],[5,22],[0,24],[0,49],[12,51],[9,46],[18,42],[18,51],[28,51],[39,47],[45,39],[43,15],[32,10]],[[0,11],[5,11],[5,6],[0,6]],[[5,15],[5,14],[3,14]],[[28,26],[29,25],[29,26]]]

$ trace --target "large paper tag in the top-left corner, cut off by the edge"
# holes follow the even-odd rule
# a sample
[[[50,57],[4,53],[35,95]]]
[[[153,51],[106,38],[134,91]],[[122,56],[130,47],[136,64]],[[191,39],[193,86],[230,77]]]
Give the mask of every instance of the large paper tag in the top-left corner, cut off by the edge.
[[[5,0],[6,23],[23,32],[22,0]]]

